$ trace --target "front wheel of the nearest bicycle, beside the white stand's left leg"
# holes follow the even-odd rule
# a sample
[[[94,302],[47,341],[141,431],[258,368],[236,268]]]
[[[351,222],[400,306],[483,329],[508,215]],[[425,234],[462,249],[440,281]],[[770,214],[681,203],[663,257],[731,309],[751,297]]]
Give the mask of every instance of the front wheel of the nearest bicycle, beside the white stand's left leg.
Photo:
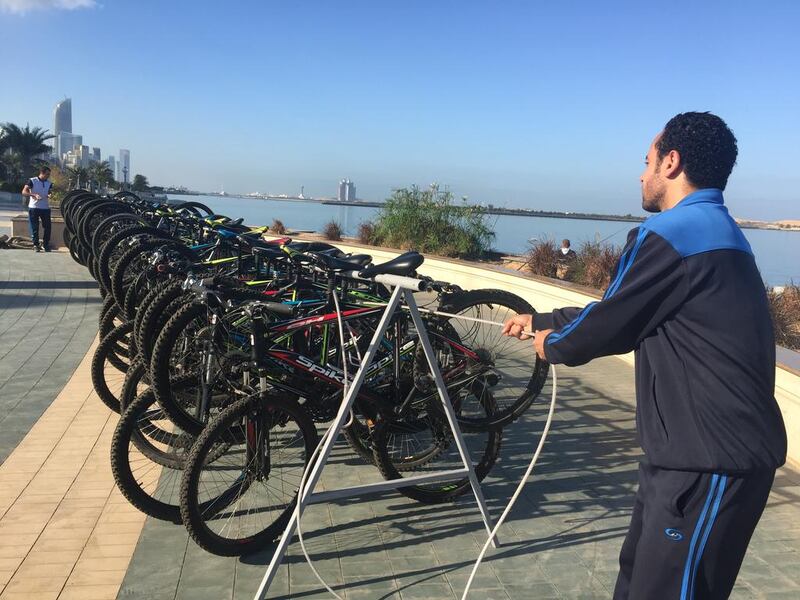
[[[314,422],[295,402],[253,394],[198,436],[181,481],[181,517],[205,550],[241,556],[286,527],[317,446]]]

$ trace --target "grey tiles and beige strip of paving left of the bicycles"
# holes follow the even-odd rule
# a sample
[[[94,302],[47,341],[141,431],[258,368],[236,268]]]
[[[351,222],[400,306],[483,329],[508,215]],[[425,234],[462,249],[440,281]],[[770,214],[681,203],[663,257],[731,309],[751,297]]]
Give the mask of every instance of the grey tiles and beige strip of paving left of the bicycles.
[[[9,269],[0,281],[0,330],[18,347],[4,345],[0,358],[0,599],[115,598],[144,517],[115,491],[116,417],[89,377],[97,293],[67,255],[5,256],[16,261],[15,279]],[[33,299],[21,301],[28,292]],[[59,324],[65,307],[73,318]],[[7,368],[20,361],[21,371]],[[16,404],[9,391],[22,395]]]

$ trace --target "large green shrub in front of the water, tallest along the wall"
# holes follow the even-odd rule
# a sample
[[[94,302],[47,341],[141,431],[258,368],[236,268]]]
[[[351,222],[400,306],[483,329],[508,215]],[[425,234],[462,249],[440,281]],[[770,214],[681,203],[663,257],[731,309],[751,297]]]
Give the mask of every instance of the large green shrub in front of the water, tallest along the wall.
[[[494,239],[482,207],[456,205],[432,185],[395,190],[378,213],[372,243],[459,258],[479,258]]]

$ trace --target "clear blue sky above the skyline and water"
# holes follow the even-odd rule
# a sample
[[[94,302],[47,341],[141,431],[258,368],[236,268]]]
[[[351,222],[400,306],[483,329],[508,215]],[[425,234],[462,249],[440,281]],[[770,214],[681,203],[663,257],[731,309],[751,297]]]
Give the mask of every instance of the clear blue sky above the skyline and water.
[[[131,151],[151,184],[641,213],[674,114],[739,140],[736,216],[798,219],[800,2],[0,0],[0,122]]]

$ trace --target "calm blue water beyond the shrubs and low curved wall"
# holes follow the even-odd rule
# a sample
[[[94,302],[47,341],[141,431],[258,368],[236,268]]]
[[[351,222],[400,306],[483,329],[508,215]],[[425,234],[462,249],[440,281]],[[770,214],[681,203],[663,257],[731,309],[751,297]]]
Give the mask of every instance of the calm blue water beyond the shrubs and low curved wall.
[[[355,235],[358,226],[373,219],[379,209],[340,206],[289,200],[255,200],[220,196],[170,196],[175,200],[194,200],[229,217],[244,217],[246,223],[271,225],[280,219],[290,229],[319,231],[331,220],[338,221],[347,235]],[[573,246],[584,241],[604,240],[622,245],[636,223],[559,219],[550,217],[490,216],[497,234],[494,246],[510,254],[522,254],[531,239],[569,238]],[[761,275],[769,285],[800,282],[800,233],[768,229],[744,229],[756,255]]]

